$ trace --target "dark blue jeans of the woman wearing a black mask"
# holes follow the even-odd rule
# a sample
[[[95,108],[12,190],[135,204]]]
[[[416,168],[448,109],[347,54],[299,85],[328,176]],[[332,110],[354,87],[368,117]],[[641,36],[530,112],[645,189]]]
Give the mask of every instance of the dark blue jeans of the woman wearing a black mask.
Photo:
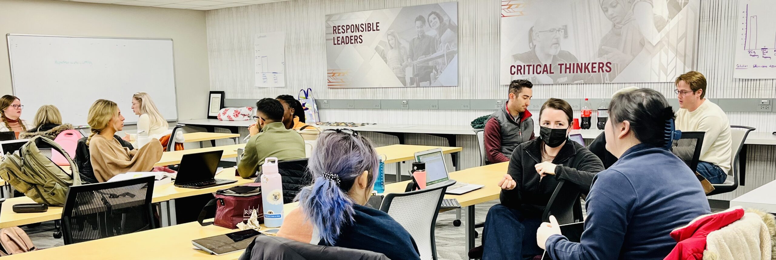
[[[536,244],[542,220],[522,217],[520,210],[496,204],[485,217],[483,260],[533,258],[544,250]]]

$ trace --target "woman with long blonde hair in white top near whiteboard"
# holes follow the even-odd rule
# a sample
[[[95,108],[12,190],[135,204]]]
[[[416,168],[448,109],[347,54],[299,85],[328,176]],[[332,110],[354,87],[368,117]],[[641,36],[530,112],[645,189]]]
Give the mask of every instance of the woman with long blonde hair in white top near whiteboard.
[[[140,115],[137,118],[137,133],[127,133],[123,139],[132,142],[135,147],[143,147],[151,139],[161,139],[171,133],[167,120],[156,109],[148,93],[137,92],[132,95],[132,112]]]

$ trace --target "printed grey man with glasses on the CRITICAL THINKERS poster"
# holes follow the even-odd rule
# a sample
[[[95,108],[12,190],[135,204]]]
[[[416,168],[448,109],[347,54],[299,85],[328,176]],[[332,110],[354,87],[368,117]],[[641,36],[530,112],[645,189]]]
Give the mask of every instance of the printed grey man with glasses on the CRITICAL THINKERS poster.
[[[531,47],[531,50],[512,55],[516,63],[520,65],[542,66],[549,64],[552,66],[553,74],[534,75],[535,80],[533,81],[536,84],[582,83],[587,77],[585,74],[561,73],[562,69],[558,64],[576,64],[579,62],[573,54],[560,49],[560,38],[566,36],[566,26],[563,26],[562,23],[561,19],[552,16],[542,16],[537,19],[534,26],[528,29],[528,47]],[[518,78],[521,76],[515,75],[513,79]]]

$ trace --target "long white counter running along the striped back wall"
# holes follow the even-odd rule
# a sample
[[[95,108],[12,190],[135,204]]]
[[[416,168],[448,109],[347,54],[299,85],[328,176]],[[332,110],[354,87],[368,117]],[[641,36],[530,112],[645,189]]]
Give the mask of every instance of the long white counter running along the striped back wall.
[[[220,121],[220,120],[181,120],[178,123],[184,124],[198,124],[207,126],[223,126],[223,127],[249,127],[255,123],[253,120],[248,121]],[[401,124],[388,124],[378,123],[374,125],[366,125],[362,127],[329,127],[329,126],[317,126],[321,129],[341,129],[348,128],[352,130],[362,132],[390,132],[390,133],[438,133],[438,134],[461,134],[461,135],[473,135],[474,129],[470,126],[455,126],[455,125],[401,125]],[[585,129],[585,130],[572,130],[571,133],[581,133],[585,139],[595,139],[604,130],[598,129]],[[539,133],[538,130],[535,131]],[[749,133],[747,141],[744,144],[764,144],[764,145],[776,145],[776,135],[772,134],[773,131],[762,133],[752,132]]]

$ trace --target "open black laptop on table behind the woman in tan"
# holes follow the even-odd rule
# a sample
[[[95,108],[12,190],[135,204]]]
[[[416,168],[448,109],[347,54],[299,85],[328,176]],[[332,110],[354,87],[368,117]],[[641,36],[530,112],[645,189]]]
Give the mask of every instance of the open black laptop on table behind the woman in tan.
[[[202,189],[237,182],[230,179],[215,179],[218,162],[223,150],[183,154],[175,187]]]

